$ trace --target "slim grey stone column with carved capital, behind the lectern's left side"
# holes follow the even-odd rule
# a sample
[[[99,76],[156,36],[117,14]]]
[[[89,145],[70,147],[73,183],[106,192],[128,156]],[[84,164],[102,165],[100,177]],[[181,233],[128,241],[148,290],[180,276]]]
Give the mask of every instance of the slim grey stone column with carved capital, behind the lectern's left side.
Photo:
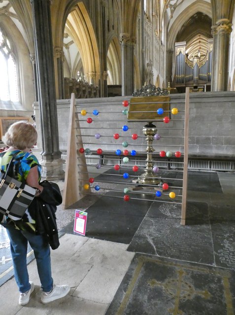
[[[122,49],[122,96],[134,93],[134,44],[127,33],[120,34]]]

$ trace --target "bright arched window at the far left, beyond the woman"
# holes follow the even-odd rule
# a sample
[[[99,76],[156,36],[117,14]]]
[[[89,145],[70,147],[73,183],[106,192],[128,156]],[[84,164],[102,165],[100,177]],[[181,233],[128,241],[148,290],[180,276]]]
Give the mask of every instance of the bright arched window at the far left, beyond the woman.
[[[18,102],[17,68],[11,45],[0,29],[0,101]]]

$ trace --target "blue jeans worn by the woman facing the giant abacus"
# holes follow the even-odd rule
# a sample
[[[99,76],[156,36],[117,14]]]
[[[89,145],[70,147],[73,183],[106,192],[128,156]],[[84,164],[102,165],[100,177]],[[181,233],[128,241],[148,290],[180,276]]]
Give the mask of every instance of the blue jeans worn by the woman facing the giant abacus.
[[[6,230],[10,239],[15,280],[19,291],[24,293],[31,288],[26,260],[29,241],[30,246],[34,250],[42,290],[49,292],[53,287],[53,279],[51,277],[50,247],[46,235],[35,235],[14,228],[7,228]]]

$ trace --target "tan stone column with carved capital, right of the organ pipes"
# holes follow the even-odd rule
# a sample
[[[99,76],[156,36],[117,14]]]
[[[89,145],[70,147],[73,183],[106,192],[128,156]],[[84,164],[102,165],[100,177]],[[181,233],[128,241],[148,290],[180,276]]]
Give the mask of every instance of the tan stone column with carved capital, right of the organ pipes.
[[[229,69],[229,41],[232,23],[226,18],[212,26],[213,65],[211,91],[227,91]]]

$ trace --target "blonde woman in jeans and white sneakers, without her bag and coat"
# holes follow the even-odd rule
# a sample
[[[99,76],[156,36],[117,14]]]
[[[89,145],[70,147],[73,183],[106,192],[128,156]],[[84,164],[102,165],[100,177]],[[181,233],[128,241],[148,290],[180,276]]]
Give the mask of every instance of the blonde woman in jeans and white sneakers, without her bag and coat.
[[[26,122],[11,125],[2,138],[7,148],[0,153],[0,169],[6,171],[12,156],[14,158],[14,177],[18,181],[26,180],[26,184],[37,189],[36,196],[42,191],[40,186],[41,166],[31,149],[37,141],[34,126]],[[34,291],[33,282],[29,281],[27,270],[28,242],[34,250],[37,272],[41,282],[41,302],[49,303],[67,295],[68,285],[54,285],[51,275],[50,247],[46,235],[35,234],[35,209],[29,207],[20,220],[12,220],[2,216],[1,224],[6,227],[10,239],[10,249],[14,266],[14,275],[19,287],[19,304],[26,305]],[[17,218],[15,218],[17,219]]]

